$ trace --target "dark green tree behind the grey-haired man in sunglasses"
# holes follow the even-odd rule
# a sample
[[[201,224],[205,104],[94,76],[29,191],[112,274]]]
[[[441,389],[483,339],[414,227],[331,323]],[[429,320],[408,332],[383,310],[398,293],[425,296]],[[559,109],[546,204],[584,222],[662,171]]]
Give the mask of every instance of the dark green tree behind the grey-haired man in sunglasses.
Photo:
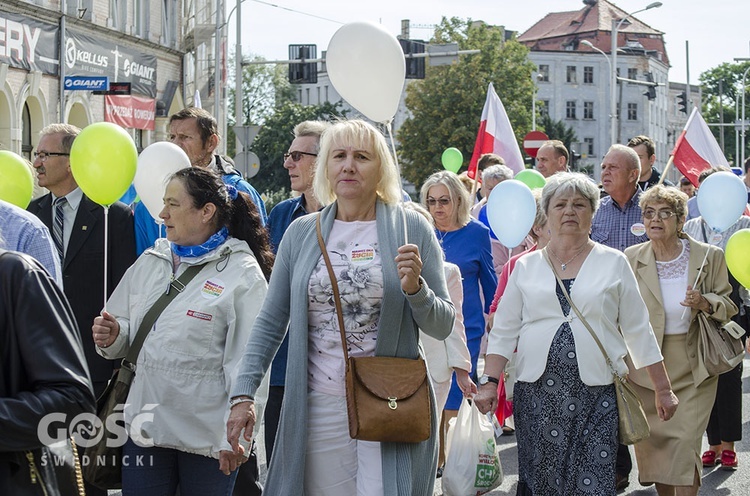
[[[336,117],[345,117],[346,111],[341,104],[323,103],[320,105],[301,105],[286,101],[274,108],[273,114],[265,118],[263,127],[253,141],[252,150],[260,159],[258,175],[252,178],[252,184],[267,196],[283,190],[282,199],[288,197],[289,174],[282,166],[284,153],[294,139],[294,126],[307,120],[330,121]],[[271,206],[267,206],[270,210]]]

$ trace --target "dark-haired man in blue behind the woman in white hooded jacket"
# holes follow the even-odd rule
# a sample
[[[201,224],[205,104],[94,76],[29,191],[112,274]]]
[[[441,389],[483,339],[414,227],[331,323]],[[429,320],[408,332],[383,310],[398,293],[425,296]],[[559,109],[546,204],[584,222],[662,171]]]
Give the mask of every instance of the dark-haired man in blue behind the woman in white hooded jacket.
[[[263,225],[268,222],[263,199],[234,168],[231,159],[214,153],[221,136],[216,119],[206,110],[187,107],[169,118],[169,141],[183,149],[193,167],[219,174],[225,184],[247,193],[258,208]],[[135,207],[135,241],[138,255],[151,248],[159,238],[159,226],[142,203]]]

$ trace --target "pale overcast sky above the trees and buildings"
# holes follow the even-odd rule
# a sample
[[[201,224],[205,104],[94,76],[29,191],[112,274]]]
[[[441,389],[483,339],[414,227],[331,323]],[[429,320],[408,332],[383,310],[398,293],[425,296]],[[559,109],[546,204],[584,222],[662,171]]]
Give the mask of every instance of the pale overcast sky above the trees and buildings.
[[[227,12],[238,0],[225,0]],[[690,83],[701,72],[734,57],[750,57],[750,2],[746,0],[663,0],[659,8],[636,14],[664,32],[672,67],[669,80],[687,81],[685,42],[689,42]],[[650,0],[619,0],[618,7],[635,12]],[[742,6],[744,5],[744,7]],[[289,58],[288,45],[316,44],[318,55],[336,30],[347,22],[371,21],[390,33],[401,32],[401,20],[412,24],[411,38],[428,40],[431,26],[445,17],[483,20],[508,30],[526,31],[549,12],[583,8],[581,0],[242,0],[242,52],[267,60]],[[229,19],[229,44],[234,51],[236,12]]]

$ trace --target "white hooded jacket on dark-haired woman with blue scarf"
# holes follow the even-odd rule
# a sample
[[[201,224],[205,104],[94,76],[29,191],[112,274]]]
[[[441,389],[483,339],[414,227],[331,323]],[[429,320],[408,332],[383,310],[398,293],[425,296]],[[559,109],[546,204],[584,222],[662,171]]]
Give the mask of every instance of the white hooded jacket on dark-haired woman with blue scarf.
[[[201,263],[143,344],[125,425],[141,444],[218,458],[231,450],[229,391],[268,285],[247,243],[235,238],[201,257],[182,258],[175,277]],[[166,291],[172,267],[169,242],[159,239],[128,269],[107,302],[120,333],[99,354],[125,357],[146,312]]]

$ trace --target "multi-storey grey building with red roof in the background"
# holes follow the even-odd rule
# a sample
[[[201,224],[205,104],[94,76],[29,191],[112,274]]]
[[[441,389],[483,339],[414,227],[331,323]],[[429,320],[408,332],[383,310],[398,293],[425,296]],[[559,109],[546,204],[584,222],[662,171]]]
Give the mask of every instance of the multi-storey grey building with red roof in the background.
[[[605,0],[587,0],[581,10],[546,15],[518,38],[529,47],[529,58],[538,68],[534,80],[541,112],[575,131],[579,164],[592,168],[596,179],[598,165],[612,144],[613,22],[626,18],[617,31],[616,69],[621,79],[614,88],[615,142],[650,136],[661,169],[671,151],[669,59],[662,32]],[[649,95],[649,86],[643,83],[651,82],[657,86]]]

